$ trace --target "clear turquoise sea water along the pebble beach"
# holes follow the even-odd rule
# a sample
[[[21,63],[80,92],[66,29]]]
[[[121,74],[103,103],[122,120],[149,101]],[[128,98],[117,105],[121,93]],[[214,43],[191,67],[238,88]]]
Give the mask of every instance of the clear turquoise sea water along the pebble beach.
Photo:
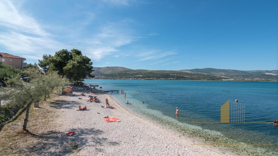
[[[191,122],[220,122],[220,106],[235,99],[244,104],[245,122],[273,122],[278,118],[278,82],[86,79],[85,83],[98,84],[103,90],[124,90],[126,98],[113,92],[113,97],[124,107],[184,135],[200,138],[203,142],[221,140],[222,144],[275,144],[242,148],[248,149],[246,153],[249,155],[252,150],[263,155],[277,154],[278,127],[272,124]],[[126,105],[127,100],[132,105]],[[176,107],[180,111],[178,118],[175,116]],[[196,133],[189,129],[195,129]],[[205,131],[269,131],[269,135],[224,135],[215,140],[214,136],[204,136]]]

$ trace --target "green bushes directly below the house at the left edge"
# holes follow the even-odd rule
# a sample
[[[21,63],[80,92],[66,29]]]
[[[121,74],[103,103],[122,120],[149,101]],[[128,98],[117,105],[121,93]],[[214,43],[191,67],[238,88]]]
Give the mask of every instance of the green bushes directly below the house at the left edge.
[[[6,81],[21,72],[20,69],[14,68],[9,65],[0,64],[0,81]]]

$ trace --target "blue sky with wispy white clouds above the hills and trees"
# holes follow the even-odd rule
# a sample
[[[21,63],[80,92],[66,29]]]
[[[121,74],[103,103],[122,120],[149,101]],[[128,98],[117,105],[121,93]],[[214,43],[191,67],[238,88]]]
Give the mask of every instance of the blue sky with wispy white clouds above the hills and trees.
[[[0,0],[0,51],[77,48],[94,67],[278,69],[278,1]]]

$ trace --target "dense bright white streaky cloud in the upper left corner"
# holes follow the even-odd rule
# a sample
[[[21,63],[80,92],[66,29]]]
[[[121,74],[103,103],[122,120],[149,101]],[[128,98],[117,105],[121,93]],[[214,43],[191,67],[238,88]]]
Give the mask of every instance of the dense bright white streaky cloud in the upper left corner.
[[[42,26],[30,16],[20,12],[9,1],[0,1],[0,45],[26,59],[41,58],[44,53],[65,47],[51,38]]]

